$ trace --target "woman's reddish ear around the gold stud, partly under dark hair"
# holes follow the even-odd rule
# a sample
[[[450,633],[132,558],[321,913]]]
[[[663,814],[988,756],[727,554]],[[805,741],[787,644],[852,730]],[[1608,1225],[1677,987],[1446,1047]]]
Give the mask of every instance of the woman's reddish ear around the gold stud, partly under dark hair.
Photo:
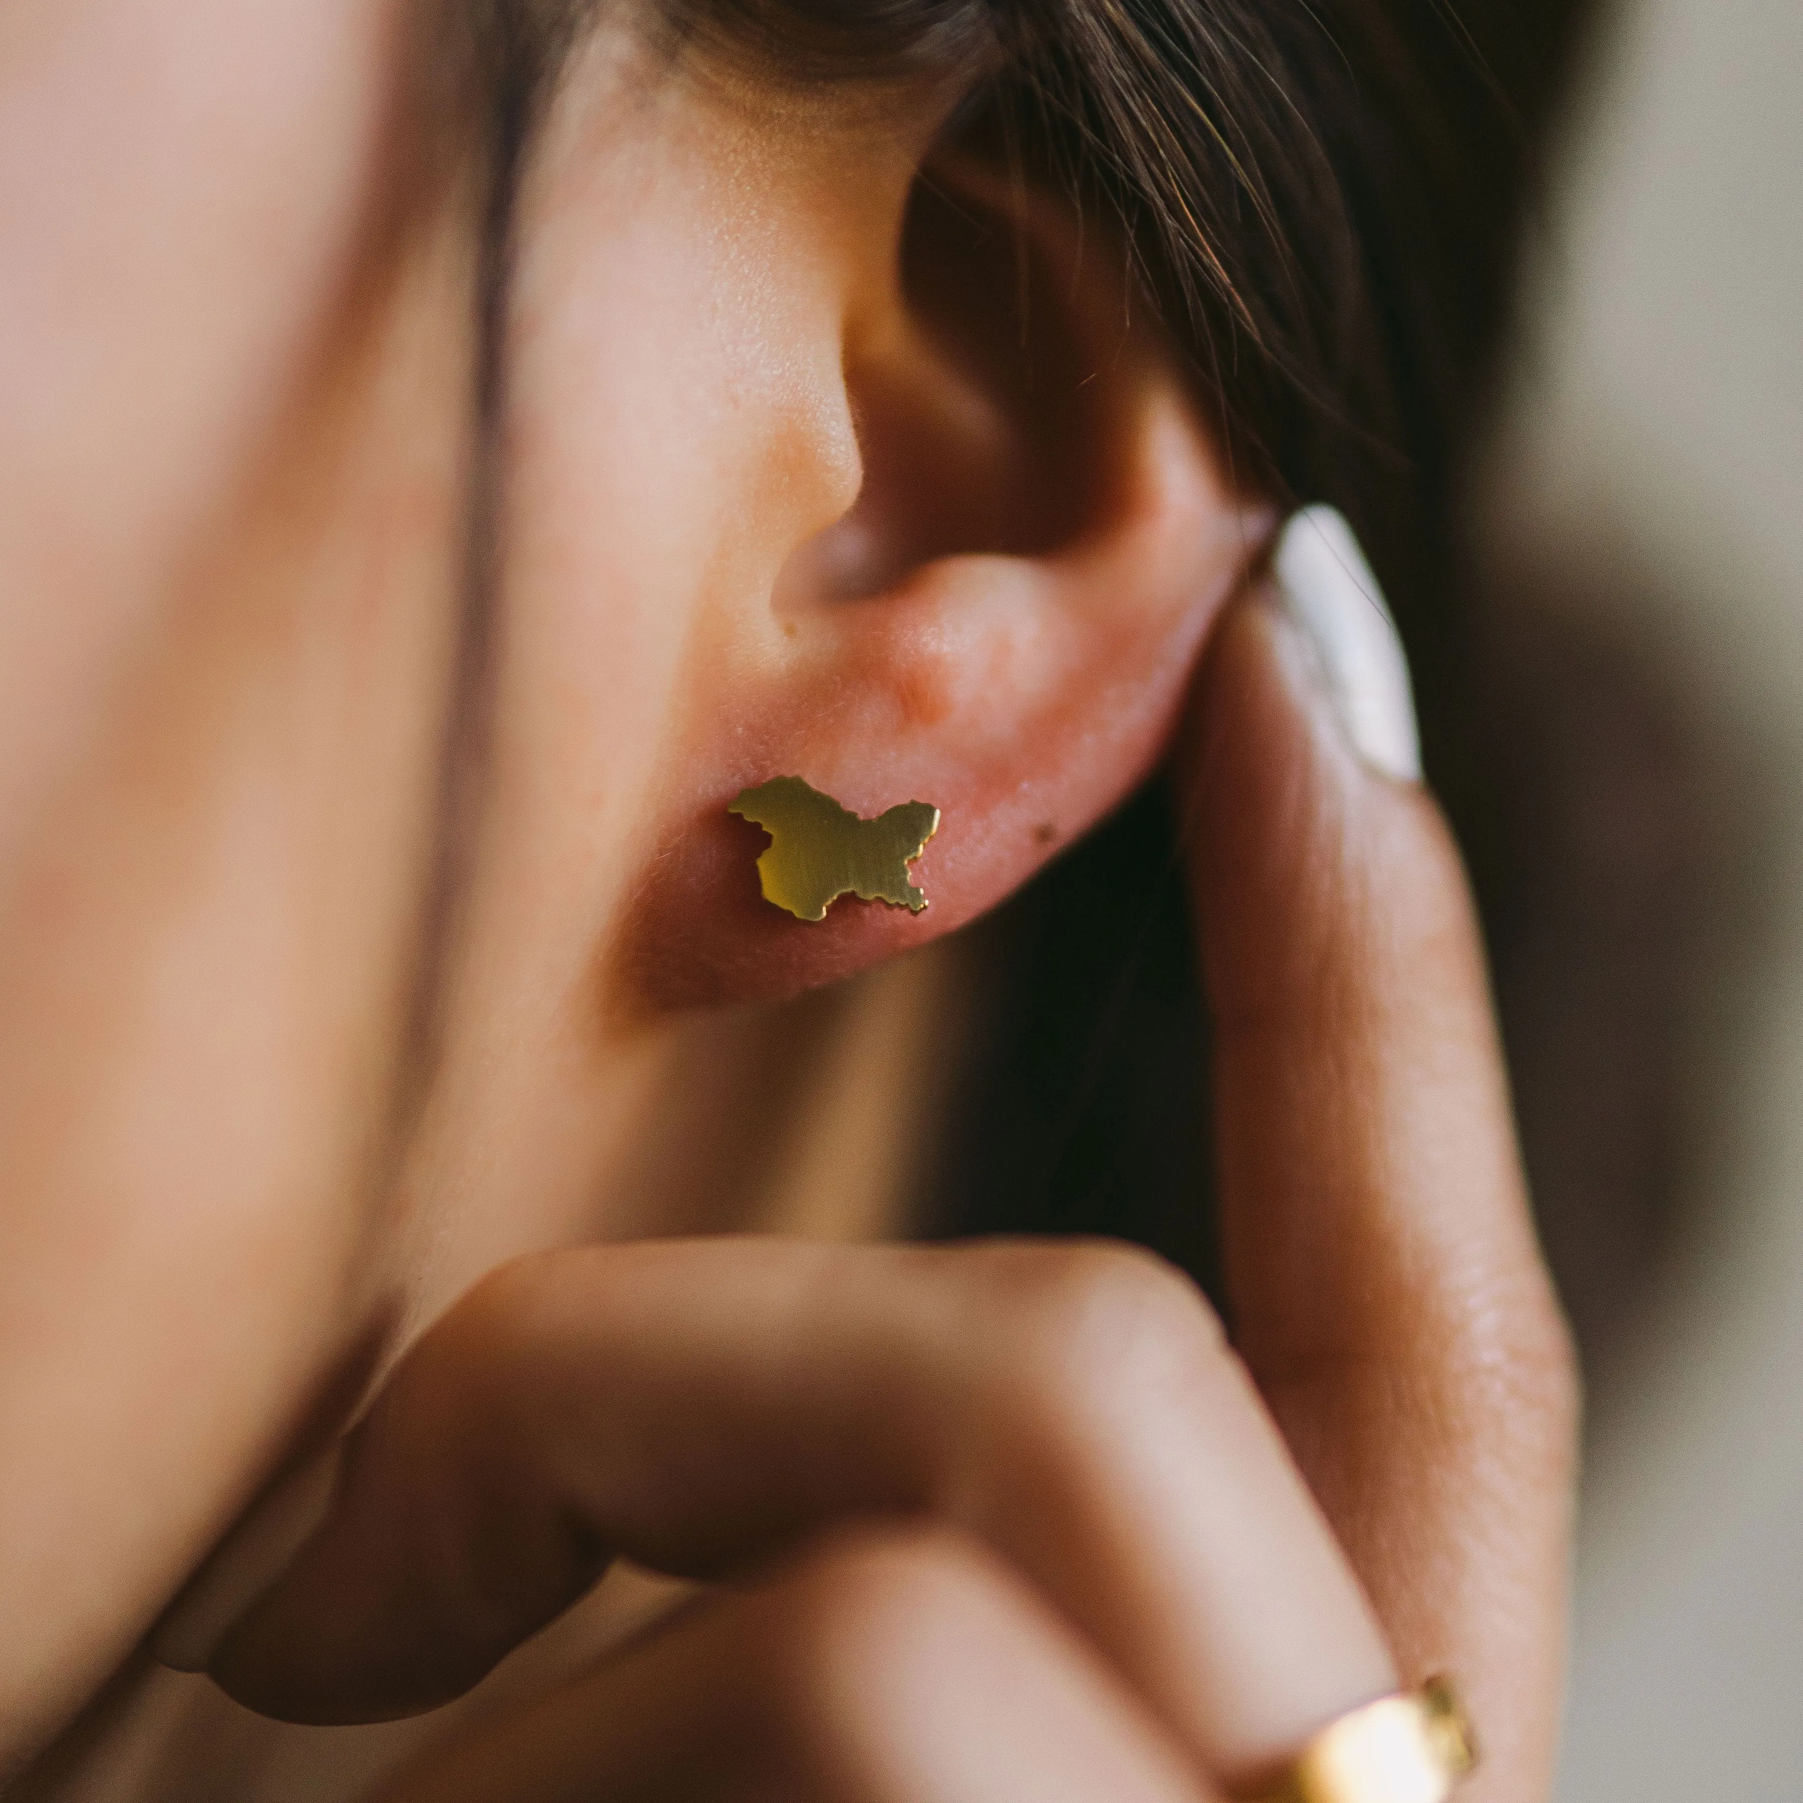
[[[862,296],[840,361],[864,485],[743,599],[736,654],[700,685],[622,939],[640,1004],[793,992],[995,905],[1156,764],[1269,534],[1136,317],[1125,256],[1049,200],[921,182]],[[941,810],[914,865],[932,911],[772,907],[770,838],[728,804],[790,775],[865,820]]]

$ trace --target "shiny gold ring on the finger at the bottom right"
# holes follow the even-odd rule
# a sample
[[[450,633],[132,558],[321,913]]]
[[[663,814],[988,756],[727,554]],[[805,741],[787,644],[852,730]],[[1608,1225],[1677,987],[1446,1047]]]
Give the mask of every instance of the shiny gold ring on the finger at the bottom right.
[[[1246,1803],[1446,1803],[1477,1744],[1446,1679],[1329,1722],[1273,1790]]]

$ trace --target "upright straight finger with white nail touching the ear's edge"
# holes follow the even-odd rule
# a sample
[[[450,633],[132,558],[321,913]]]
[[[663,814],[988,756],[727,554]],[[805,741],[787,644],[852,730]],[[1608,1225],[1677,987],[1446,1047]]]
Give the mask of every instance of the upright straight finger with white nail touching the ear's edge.
[[[1405,1671],[1455,1670],[1489,1783],[1529,1796],[1570,1361],[1459,856],[1412,781],[1401,651],[1350,537],[1322,530],[1286,534],[1286,609],[1222,626],[1186,743],[1235,1340]]]

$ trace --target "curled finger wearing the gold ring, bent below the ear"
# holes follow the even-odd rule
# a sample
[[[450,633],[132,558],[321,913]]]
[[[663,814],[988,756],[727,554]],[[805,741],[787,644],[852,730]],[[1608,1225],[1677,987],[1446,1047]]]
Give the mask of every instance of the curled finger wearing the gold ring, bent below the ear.
[[[1387,1688],[1194,1287],[1123,1249],[645,1244],[528,1260],[409,1356],[332,1516],[213,1657],[269,1713],[454,1695],[609,1552],[745,1569],[837,1516],[988,1543],[1240,1774]]]

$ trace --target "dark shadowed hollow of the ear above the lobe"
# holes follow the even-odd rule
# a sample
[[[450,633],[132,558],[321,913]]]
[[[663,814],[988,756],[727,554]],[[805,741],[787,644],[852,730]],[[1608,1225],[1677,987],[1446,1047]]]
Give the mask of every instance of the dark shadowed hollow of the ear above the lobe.
[[[864,483],[792,555],[779,609],[878,595],[943,557],[1040,555],[1082,530],[1100,395],[1064,249],[974,184],[916,184],[891,305],[847,334]]]

